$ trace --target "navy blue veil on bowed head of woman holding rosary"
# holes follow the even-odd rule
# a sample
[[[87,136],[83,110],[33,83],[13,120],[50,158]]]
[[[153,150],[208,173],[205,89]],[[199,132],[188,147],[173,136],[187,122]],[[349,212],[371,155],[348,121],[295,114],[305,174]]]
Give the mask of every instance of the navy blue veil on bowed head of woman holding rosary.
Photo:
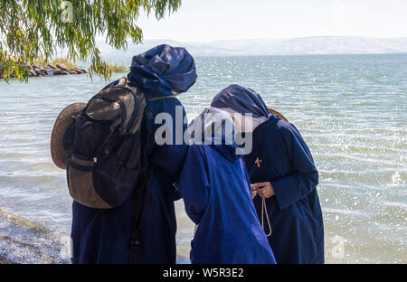
[[[232,108],[241,115],[269,118],[269,108],[254,90],[237,84],[222,89],[212,100],[213,108]]]

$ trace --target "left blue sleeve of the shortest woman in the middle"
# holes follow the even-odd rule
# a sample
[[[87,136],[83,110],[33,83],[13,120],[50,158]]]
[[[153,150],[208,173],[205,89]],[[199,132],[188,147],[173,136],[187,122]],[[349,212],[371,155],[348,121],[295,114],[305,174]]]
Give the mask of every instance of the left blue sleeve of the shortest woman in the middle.
[[[184,199],[186,214],[195,224],[199,224],[209,202],[203,146],[190,146],[180,176],[178,192]]]

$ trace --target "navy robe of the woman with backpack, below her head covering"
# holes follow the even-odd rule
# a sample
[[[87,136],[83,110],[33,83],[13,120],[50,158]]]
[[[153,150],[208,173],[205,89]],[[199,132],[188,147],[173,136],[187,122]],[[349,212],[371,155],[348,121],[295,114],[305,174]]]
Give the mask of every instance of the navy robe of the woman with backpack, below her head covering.
[[[182,104],[177,99],[148,102],[154,117],[161,112],[175,117],[175,106],[182,107]],[[155,125],[155,130],[157,127],[159,125]],[[175,132],[175,124],[173,129]],[[175,134],[173,138],[175,144]],[[173,183],[178,181],[186,152],[185,144],[155,145],[153,148],[151,196],[141,231],[142,245],[137,251],[139,263],[175,263],[174,201],[179,195],[175,193]],[[72,263],[128,263],[131,211],[131,198],[111,210],[91,209],[73,202]]]

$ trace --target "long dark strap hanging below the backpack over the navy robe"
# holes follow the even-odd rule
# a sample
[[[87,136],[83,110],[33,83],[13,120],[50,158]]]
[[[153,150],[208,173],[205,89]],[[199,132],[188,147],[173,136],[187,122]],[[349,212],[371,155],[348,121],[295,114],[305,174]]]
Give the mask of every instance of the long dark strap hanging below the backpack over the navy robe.
[[[150,186],[152,181],[153,168],[148,165],[147,172],[145,173],[145,181],[142,187],[135,193],[133,193],[133,206],[131,211],[131,230],[130,230],[130,249],[128,252],[128,263],[137,263],[137,251],[141,247],[141,228],[143,226],[144,219],[146,218],[147,204],[150,198]],[[141,196],[143,196],[143,202],[141,202]],[[142,204],[140,207],[139,205]]]

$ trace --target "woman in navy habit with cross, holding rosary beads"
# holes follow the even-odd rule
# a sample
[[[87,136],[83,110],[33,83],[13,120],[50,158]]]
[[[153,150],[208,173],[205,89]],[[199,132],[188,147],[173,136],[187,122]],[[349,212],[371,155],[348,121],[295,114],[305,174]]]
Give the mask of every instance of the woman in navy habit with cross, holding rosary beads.
[[[277,263],[324,263],[317,167],[297,128],[269,114],[258,93],[239,85],[222,89],[211,106],[234,118],[246,142],[252,137],[243,159]]]

